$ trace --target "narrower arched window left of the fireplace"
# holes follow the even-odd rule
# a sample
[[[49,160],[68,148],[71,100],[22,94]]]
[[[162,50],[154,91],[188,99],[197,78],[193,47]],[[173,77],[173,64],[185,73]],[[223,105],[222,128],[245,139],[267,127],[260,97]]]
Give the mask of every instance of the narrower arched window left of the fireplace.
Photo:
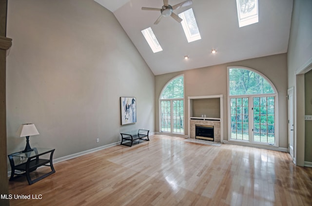
[[[184,77],[178,76],[164,86],[160,97],[160,132],[184,134]]]

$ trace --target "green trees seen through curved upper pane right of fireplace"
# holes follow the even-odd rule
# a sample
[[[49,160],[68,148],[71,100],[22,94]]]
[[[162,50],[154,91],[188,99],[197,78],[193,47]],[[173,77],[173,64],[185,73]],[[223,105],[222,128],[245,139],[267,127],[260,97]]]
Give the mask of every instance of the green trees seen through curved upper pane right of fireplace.
[[[262,76],[248,69],[230,69],[230,95],[273,94],[274,89]]]

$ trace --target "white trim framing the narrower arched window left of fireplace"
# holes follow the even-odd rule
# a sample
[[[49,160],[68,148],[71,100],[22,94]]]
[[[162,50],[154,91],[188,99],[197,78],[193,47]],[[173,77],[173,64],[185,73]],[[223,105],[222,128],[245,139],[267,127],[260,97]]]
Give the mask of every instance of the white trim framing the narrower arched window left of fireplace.
[[[171,83],[174,79],[183,76],[183,98],[172,98],[172,99],[161,99],[161,95],[164,91],[164,89],[166,89],[166,87],[168,86],[169,83]],[[184,74],[181,75],[177,75],[175,77],[173,77],[172,79],[170,79],[165,86],[162,87],[159,97],[158,97],[158,131],[161,132],[161,101],[171,101],[171,105],[170,105],[170,109],[171,111],[173,111],[173,100],[183,100],[183,111],[184,111],[184,117],[183,117],[183,128],[184,128],[184,133],[183,135],[185,135],[185,89],[184,89]],[[173,120],[173,113],[171,112],[171,120]],[[164,134],[181,134],[181,133],[174,133],[173,131],[173,124],[171,124],[171,132],[161,132]]]

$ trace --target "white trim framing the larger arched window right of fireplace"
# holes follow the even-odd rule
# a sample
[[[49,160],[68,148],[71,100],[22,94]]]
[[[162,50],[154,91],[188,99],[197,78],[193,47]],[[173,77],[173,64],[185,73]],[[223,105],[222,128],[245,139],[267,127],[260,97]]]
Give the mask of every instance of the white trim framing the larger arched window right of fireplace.
[[[261,77],[263,77],[265,80],[268,81],[268,83],[272,86],[274,93],[273,94],[251,94],[251,95],[230,95],[230,76],[229,76],[229,71],[230,69],[247,69],[250,71],[253,71],[257,74],[259,74]],[[231,66],[231,67],[227,67],[227,87],[228,87],[228,142],[238,142],[238,143],[242,143],[242,144],[246,144],[247,146],[265,146],[265,147],[279,147],[279,135],[278,135],[278,130],[279,130],[279,125],[278,125],[278,93],[277,93],[277,89],[276,87],[273,85],[273,83],[261,72],[248,68],[248,67],[241,67],[241,66]],[[275,144],[270,145],[269,143],[262,143],[262,142],[254,142],[254,140],[240,140],[240,139],[231,139],[231,98],[243,98],[243,97],[274,97],[274,132],[275,132]],[[249,103],[251,103],[251,101],[249,101]],[[250,107],[250,106],[248,106]],[[249,111],[249,114],[252,111]],[[253,117],[253,116],[249,116],[249,117]],[[250,122],[249,124],[254,124],[254,119],[250,118]],[[251,134],[251,133],[250,133]],[[252,134],[254,135],[254,134]]]

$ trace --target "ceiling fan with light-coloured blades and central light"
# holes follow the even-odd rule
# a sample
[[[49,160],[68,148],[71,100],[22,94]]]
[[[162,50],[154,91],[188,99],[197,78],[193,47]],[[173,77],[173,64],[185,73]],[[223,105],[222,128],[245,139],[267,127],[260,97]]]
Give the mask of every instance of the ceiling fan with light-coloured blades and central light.
[[[158,24],[162,17],[168,17],[168,16],[173,17],[174,19],[176,19],[177,22],[180,23],[183,19],[177,16],[173,11],[176,9],[185,7],[185,6],[189,6],[193,3],[192,0],[186,0],[174,6],[171,6],[169,5],[168,0],[163,0],[163,1],[164,1],[164,5],[161,7],[161,9],[142,7],[142,10],[160,11],[161,15],[157,18],[154,24]]]

